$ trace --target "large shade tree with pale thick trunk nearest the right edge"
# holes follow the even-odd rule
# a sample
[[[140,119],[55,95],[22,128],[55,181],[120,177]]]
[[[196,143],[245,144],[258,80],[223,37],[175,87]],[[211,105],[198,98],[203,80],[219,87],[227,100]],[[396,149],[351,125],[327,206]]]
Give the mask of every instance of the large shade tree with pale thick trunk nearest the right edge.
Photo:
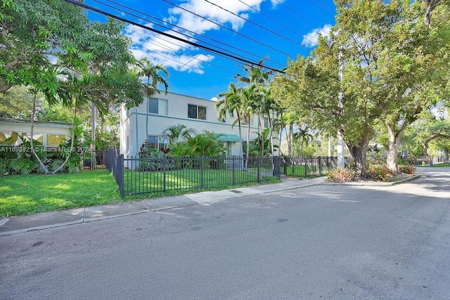
[[[424,110],[450,98],[450,7],[434,6],[433,18],[420,22],[427,6],[399,3],[395,22],[383,41],[380,75],[388,106],[383,114],[389,143],[387,167],[397,171],[397,152],[407,126]]]

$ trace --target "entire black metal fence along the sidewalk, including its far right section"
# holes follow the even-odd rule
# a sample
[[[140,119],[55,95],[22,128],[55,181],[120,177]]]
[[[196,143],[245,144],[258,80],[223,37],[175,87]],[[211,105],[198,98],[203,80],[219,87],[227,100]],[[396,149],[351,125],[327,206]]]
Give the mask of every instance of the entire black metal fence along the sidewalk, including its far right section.
[[[262,183],[282,174],[323,176],[338,165],[338,157],[124,157],[115,149],[103,155],[122,197]]]

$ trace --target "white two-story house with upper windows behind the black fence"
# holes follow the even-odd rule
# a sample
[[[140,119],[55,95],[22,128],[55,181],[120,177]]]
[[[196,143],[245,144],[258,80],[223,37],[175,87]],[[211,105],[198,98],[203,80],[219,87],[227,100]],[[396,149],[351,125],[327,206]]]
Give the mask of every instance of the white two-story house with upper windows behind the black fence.
[[[242,156],[238,125],[232,126],[236,117],[217,117],[216,102],[178,93],[159,93],[144,100],[139,107],[120,112],[120,154],[131,157],[138,154],[146,139],[153,148],[166,148],[169,139],[163,132],[170,126],[184,124],[198,133],[219,133],[219,141],[225,143],[229,155]],[[146,131],[146,118],[148,130]],[[266,124],[267,125],[267,124]],[[257,117],[250,122],[250,141],[257,137]],[[148,132],[148,136],[146,136]],[[242,126],[242,138],[246,141],[247,125]]]

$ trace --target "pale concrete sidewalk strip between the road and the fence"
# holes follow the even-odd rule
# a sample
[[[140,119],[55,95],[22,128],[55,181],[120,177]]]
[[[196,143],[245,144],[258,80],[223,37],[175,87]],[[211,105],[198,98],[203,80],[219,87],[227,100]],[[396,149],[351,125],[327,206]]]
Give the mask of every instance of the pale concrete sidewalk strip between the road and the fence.
[[[418,176],[405,178],[395,183],[345,183],[346,185],[394,185],[411,181]],[[15,233],[25,233],[30,230],[40,230],[45,228],[67,226],[77,223],[111,219],[118,216],[129,216],[132,214],[142,214],[151,211],[160,211],[175,207],[185,207],[189,205],[210,205],[231,198],[245,197],[248,195],[259,195],[264,193],[274,193],[281,190],[291,190],[295,188],[306,188],[312,185],[330,184],[326,183],[326,177],[313,179],[283,178],[281,183],[266,185],[253,185],[245,188],[233,188],[230,190],[219,190],[214,192],[200,192],[172,197],[160,197],[145,199],[136,202],[120,202],[116,204],[101,205],[98,207],[82,207],[78,209],[67,209],[63,211],[49,211],[39,214],[25,216],[11,216],[0,218],[0,236],[12,235]],[[342,185],[342,183],[338,183]]]

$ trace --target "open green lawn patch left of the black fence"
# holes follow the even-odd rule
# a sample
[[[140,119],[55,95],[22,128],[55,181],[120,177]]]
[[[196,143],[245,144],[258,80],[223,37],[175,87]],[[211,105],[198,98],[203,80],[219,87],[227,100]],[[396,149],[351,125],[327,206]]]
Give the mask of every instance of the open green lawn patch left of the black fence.
[[[0,216],[120,202],[109,171],[0,177]]]

